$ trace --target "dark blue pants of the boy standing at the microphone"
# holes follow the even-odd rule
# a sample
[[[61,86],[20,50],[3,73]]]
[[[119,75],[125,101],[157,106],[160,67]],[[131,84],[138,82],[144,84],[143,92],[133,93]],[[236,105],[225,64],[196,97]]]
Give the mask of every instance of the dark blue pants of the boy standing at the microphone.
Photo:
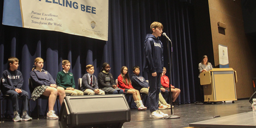
[[[161,73],[157,73],[155,77],[152,73],[147,73],[149,79],[149,109],[152,113],[158,110],[159,93],[161,87]]]

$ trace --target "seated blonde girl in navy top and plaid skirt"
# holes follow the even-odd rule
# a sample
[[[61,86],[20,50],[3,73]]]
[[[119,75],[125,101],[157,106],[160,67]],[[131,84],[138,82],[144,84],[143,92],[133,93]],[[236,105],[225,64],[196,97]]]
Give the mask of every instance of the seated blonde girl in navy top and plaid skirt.
[[[30,79],[33,83],[34,91],[32,92],[32,100],[36,100],[41,95],[49,96],[47,119],[58,119],[58,116],[53,111],[57,95],[59,96],[60,105],[66,96],[65,90],[56,85],[51,74],[43,70],[43,59],[38,57],[34,60],[34,68],[30,72]]]

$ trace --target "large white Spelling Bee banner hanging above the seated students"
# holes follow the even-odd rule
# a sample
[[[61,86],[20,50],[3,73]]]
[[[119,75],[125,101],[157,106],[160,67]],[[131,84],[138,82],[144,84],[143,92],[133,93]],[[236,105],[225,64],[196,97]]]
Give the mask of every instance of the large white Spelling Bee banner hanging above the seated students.
[[[4,0],[2,24],[107,40],[108,0]]]

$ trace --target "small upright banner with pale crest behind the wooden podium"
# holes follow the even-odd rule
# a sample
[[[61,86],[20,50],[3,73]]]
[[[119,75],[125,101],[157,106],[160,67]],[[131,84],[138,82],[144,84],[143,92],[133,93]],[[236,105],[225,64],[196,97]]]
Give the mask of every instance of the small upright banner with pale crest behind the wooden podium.
[[[228,46],[218,44],[220,68],[229,68],[228,65]]]

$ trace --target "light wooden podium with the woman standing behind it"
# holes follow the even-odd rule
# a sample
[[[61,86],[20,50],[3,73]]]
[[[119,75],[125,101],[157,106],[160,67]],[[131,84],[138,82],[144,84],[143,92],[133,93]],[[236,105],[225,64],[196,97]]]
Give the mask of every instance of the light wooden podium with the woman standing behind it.
[[[237,100],[235,83],[237,75],[233,68],[213,68],[200,73],[204,102],[222,102]]]

